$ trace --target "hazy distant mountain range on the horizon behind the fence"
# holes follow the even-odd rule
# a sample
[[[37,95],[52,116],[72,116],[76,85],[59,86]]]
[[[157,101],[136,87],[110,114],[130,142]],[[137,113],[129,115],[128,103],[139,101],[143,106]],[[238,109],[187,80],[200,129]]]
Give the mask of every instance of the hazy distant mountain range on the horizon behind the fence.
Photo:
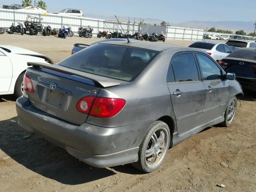
[[[106,19],[106,20],[116,20],[115,16],[99,16],[95,14],[86,14],[86,17],[98,18],[98,19]],[[144,20],[144,23],[147,24],[156,24],[160,25],[163,20],[155,19],[155,18],[129,18],[126,16],[119,16],[119,20],[124,20],[127,22],[140,22],[140,20]],[[166,21],[168,23],[168,21]],[[208,29],[214,27],[216,29],[222,30],[230,30],[235,33],[238,30],[244,30],[247,34],[254,32],[254,22],[253,21],[188,21],[182,23],[171,23],[169,25],[176,27],[187,27],[187,28],[196,28],[196,29]]]

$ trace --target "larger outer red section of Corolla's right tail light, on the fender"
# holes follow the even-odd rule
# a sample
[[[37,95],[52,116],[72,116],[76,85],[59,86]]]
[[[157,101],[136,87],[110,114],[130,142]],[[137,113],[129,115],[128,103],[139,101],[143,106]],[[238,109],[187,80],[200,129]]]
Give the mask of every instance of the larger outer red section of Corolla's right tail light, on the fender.
[[[124,99],[96,97],[90,115],[103,118],[115,116],[124,108],[125,103]]]

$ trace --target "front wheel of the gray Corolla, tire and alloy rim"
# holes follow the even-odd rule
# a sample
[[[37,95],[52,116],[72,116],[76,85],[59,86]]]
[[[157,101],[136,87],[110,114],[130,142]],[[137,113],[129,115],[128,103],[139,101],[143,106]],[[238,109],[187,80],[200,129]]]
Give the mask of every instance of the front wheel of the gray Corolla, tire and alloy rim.
[[[221,123],[222,126],[228,127],[232,124],[232,121],[234,120],[235,114],[237,109],[237,98],[234,96],[226,108],[225,111],[225,120]]]

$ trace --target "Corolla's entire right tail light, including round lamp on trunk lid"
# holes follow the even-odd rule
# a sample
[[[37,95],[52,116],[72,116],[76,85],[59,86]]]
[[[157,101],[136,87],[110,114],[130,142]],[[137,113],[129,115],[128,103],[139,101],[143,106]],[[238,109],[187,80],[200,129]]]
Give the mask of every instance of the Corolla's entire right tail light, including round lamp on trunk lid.
[[[109,118],[118,114],[125,103],[124,99],[86,96],[77,103],[76,108],[91,116]]]

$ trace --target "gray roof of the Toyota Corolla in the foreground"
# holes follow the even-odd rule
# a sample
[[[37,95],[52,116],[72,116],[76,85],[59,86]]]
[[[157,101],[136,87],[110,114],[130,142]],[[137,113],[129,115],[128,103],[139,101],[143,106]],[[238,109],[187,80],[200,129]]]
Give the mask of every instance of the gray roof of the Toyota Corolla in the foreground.
[[[182,51],[204,52],[197,48],[189,48],[189,47],[168,44],[163,42],[145,42],[145,41],[139,41],[139,40],[130,41],[130,43],[127,43],[127,41],[109,41],[109,42],[101,42],[99,44],[114,44],[114,45],[130,46],[134,48],[149,49],[149,50],[160,51],[160,52],[166,52],[174,49],[179,49]]]

